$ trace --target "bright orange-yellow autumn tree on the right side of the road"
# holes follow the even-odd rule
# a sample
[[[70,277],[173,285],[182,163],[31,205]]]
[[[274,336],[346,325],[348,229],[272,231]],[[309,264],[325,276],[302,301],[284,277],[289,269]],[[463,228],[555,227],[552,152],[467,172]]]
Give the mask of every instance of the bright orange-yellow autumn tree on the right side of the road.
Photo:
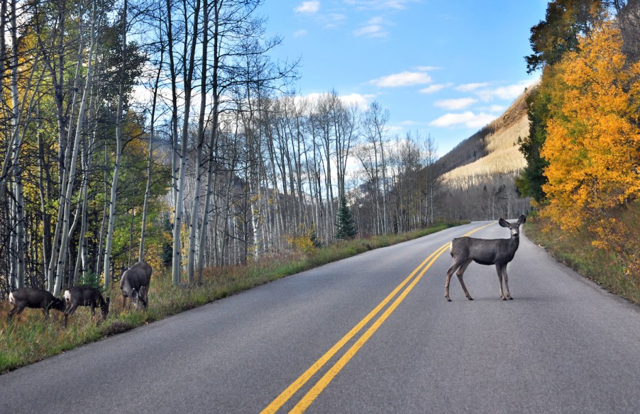
[[[586,225],[594,245],[617,251],[629,240],[620,213],[637,209],[640,195],[640,62],[625,65],[621,47],[605,22],[558,64],[562,87],[541,150],[549,162],[542,214],[563,230]]]

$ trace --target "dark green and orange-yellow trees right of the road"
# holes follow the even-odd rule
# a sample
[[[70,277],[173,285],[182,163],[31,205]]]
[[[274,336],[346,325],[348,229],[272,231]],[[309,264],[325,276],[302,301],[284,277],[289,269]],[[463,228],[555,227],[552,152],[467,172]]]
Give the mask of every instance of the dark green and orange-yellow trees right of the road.
[[[640,1],[552,1],[531,49],[527,68],[542,77],[528,102],[519,191],[551,238],[578,240],[578,254],[605,252],[595,274],[618,274],[609,289],[637,301]]]

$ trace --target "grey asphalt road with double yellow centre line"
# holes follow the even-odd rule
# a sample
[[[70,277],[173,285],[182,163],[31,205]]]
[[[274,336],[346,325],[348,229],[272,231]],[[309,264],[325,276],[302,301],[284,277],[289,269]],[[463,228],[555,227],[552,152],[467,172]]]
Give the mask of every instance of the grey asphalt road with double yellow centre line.
[[[1,375],[0,413],[640,413],[640,307],[526,237],[508,268],[513,301],[500,300],[495,267],[471,264],[475,300],[454,276],[446,302],[448,250],[425,259],[488,223],[289,276]],[[493,224],[473,236],[509,233]]]

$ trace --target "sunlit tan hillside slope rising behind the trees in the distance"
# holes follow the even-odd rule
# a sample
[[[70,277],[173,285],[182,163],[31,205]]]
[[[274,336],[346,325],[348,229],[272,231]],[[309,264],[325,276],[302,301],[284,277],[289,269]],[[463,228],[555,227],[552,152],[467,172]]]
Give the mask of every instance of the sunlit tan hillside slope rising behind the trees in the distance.
[[[518,138],[529,135],[526,97],[535,88],[536,85],[525,89],[500,118],[460,142],[436,162],[436,169],[445,181],[512,174],[524,167]]]

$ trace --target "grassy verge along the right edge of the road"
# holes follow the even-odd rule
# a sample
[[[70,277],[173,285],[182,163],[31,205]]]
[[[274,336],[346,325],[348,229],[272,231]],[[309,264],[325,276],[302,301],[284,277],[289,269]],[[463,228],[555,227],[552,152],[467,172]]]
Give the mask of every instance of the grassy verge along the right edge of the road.
[[[632,303],[640,304],[640,275],[625,274],[612,252],[597,249],[588,233],[567,235],[539,218],[527,220],[526,237],[587,279]]]

